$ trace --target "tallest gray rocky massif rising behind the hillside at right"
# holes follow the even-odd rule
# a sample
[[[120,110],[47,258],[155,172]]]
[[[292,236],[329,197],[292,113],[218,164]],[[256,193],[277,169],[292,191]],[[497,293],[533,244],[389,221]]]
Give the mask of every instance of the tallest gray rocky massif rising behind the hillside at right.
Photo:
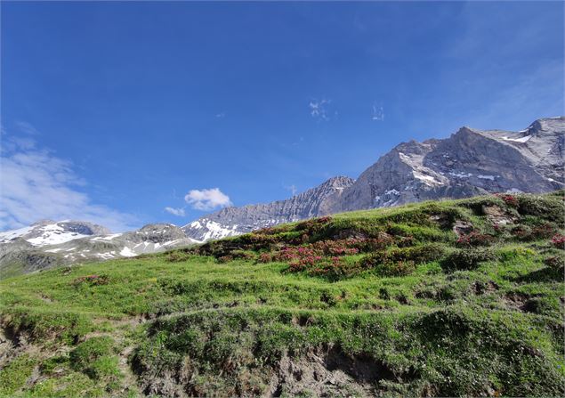
[[[521,132],[462,127],[444,140],[405,142],[367,168],[329,213],[488,192],[562,188],[565,117]]]

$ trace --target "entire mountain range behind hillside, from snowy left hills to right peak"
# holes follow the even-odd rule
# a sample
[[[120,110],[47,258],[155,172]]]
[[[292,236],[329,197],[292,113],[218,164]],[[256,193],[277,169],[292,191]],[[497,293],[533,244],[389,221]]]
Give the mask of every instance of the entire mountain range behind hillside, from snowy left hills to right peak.
[[[519,132],[460,128],[442,140],[403,142],[357,180],[338,176],[292,198],[226,207],[181,228],[149,224],[111,234],[80,221],[44,221],[0,232],[0,276],[55,264],[136,256],[238,235],[319,215],[492,192],[545,192],[565,186],[565,117]]]

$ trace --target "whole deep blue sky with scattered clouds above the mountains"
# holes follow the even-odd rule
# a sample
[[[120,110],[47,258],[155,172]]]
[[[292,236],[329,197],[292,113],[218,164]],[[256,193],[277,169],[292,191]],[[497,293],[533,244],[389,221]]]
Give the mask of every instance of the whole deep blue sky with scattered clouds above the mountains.
[[[561,2],[2,2],[0,230],[184,224],[521,130],[565,113],[562,34]]]

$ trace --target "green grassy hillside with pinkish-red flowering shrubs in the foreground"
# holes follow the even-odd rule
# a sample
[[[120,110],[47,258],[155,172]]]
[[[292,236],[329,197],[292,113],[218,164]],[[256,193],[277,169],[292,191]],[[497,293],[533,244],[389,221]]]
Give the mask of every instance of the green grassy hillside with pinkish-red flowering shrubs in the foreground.
[[[0,394],[565,394],[564,192],[361,211],[0,282]]]

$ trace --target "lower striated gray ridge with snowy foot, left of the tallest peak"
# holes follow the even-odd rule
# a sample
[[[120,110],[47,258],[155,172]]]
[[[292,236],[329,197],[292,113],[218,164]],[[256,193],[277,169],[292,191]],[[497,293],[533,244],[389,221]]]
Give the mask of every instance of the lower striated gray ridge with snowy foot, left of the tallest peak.
[[[352,183],[354,180],[351,178],[338,176],[290,199],[223,208],[184,225],[182,231],[194,240],[215,240],[278,223],[290,223],[326,214],[335,200],[339,200],[342,192]]]

